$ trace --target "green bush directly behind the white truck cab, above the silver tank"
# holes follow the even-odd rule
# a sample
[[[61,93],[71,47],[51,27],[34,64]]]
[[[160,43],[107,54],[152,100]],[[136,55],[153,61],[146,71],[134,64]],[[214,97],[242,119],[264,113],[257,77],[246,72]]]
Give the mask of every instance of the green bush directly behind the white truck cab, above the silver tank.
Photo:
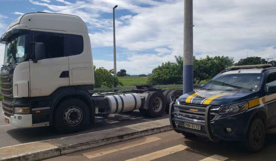
[[[94,66],[94,74],[95,74],[95,88],[101,87],[113,87],[114,84],[116,85],[123,85],[122,82],[118,80],[118,77],[113,77],[111,74],[112,70],[108,71],[103,67],[97,68]]]

